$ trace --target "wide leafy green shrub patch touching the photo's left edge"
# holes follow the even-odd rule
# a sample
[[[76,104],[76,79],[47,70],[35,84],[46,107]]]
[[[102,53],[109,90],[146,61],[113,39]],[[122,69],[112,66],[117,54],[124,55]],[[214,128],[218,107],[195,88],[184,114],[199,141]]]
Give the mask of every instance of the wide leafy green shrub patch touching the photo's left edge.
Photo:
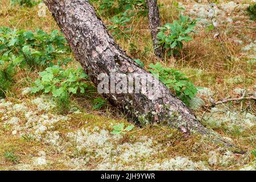
[[[70,52],[67,41],[57,30],[47,34],[41,30],[0,28],[0,63],[15,60],[21,67],[49,67],[53,60],[61,59],[63,53]],[[66,58],[63,63],[67,61]],[[58,62],[61,63],[60,60]]]

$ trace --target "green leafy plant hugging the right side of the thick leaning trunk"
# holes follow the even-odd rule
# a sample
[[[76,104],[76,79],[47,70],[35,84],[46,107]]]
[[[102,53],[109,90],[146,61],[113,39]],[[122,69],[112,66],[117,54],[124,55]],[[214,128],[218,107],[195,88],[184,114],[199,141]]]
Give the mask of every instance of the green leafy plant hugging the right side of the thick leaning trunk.
[[[189,104],[189,99],[195,97],[197,88],[193,85],[189,78],[176,69],[164,68],[160,63],[150,64],[148,71],[155,77],[158,77],[167,88],[175,91],[176,96],[180,98],[185,104]]]

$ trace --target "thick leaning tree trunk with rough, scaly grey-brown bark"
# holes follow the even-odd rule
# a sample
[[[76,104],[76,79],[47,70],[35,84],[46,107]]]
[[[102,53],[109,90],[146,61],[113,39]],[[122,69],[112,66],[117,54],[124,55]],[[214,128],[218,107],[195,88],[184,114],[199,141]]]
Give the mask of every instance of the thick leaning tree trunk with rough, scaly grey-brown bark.
[[[113,69],[116,73],[138,73],[154,80],[114,42],[88,0],[47,0],[46,5],[67,38],[77,61],[95,85],[101,82],[97,79],[98,75],[110,75]],[[118,82],[118,79],[115,80],[115,84]],[[154,93],[158,98],[156,100],[152,100],[150,92],[105,93],[104,96],[142,125],[166,123],[185,134],[210,134],[162,82],[156,80],[155,84],[158,85],[158,91]]]

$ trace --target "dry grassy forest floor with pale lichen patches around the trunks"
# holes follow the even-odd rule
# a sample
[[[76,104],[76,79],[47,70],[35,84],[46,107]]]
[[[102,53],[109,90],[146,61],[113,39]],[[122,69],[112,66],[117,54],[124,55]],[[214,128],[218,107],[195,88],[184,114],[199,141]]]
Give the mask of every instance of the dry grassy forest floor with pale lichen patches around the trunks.
[[[74,97],[67,115],[56,114],[51,96],[29,93],[36,71],[20,69],[15,85],[0,100],[0,170],[255,170],[255,101],[200,107],[209,104],[210,97],[237,98],[243,90],[255,95],[256,24],[245,12],[250,1],[217,1],[221,40],[214,38],[214,30],[207,31],[211,24],[207,1],[180,2],[184,15],[200,20],[182,55],[166,57],[161,63],[179,69],[204,88],[197,94],[201,100],[192,106],[193,112],[245,154],[234,154],[200,135],[186,138],[160,125],[135,126],[125,135],[113,135],[114,125],[131,123],[110,105],[93,110],[97,96]],[[179,11],[172,1],[159,0],[159,5],[162,24],[177,18]],[[46,16],[38,15],[42,8],[11,7],[2,0],[0,27],[58,29],[48,10]],[[110,23],[108,17],[101,18]],[[147,16],[134,16],[131,22],[133,32],[116,41],[146,67],[156,63]],[[74,60],[68,67],[78,65]]]

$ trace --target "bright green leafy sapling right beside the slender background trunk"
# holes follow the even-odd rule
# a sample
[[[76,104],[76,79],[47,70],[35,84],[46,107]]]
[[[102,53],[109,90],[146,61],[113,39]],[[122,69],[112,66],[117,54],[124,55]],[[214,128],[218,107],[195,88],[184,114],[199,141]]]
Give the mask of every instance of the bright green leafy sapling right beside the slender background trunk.
[[[159,27],[160,32],[157,37],[159,44],[168,50],[168,55],[179,55],[183,49],[183,42],[193,40],[188,34],[193,31],[196,26],[196,20],[180,15],[179,20],[173,23],[166,23],[163,27]]]

